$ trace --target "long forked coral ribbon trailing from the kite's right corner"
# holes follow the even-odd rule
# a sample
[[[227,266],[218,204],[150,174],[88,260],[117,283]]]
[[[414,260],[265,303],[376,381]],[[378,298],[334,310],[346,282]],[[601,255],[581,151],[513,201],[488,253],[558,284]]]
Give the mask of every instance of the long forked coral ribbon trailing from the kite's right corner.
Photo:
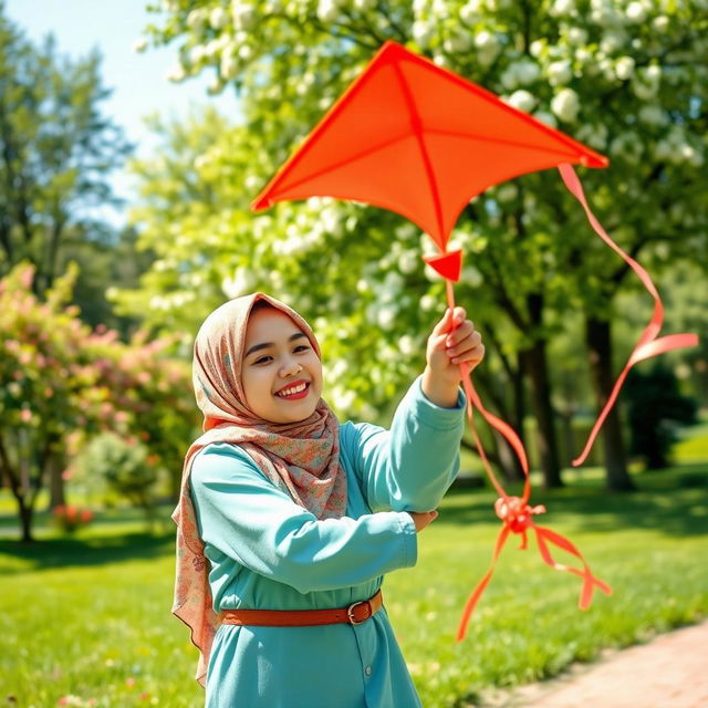
[[[607,402],[605,403],[602,412],[597,416],[595,420],[595,425],[593,426],[590,436],[587,438],[587,442],[583,448],[581,455],[573,460],[573,467],[577,467],[582,465],[590,449],[592,448],[597,434],[600,433],[600,428],[602,427],[605,418],[610,414],[610,410],[615,404],[617,399],[617,395],[622,385],[624,384],[629,369],[638,362],[644,361],[645,358],[650,358],[652,356],[656,356],[658,354],[663,354],[664,352],[670,352],[671,350],[681,348],[684,346],[696,346],[698,344],[698,336],[696,334],[670,334],[668,336],[658,337],[658,334],[662,330],[662,325],[664,323],[664,305],[662,303],[662,299],[659,298],[659,293],[656,290],[656,287],[652,282],[649,274],[635,261],[628,253],[623,251],[606,233],[606,231],[602,228],[600,221],[595,218],[595,215],[591,211],[587,206],[587,200],[585,199],[585,194],[583,192],[583,187],[580,183],[577,175],[573,167],[569,164],[561,164],[558,166],[559,171],[561,173],[561,177],[565,183],[565,187],[568,190],[580,201],[583,209],[585,210],[585,215],[587,216],[587,220],[592,226],[593,230],[597,236],[612,248],[638,275],[639,280],[644,284],[644,287],[649,291],[652,298],[654,298],[654,314],[652,315],[652,320],[649,324],[645,327],[639,341],[637,342],[634,351],[629,355],[625,367],[622,369],[622,373],[617,377],[615,385],[612,389]],[[658,337],[658,339],[657,339]]]

